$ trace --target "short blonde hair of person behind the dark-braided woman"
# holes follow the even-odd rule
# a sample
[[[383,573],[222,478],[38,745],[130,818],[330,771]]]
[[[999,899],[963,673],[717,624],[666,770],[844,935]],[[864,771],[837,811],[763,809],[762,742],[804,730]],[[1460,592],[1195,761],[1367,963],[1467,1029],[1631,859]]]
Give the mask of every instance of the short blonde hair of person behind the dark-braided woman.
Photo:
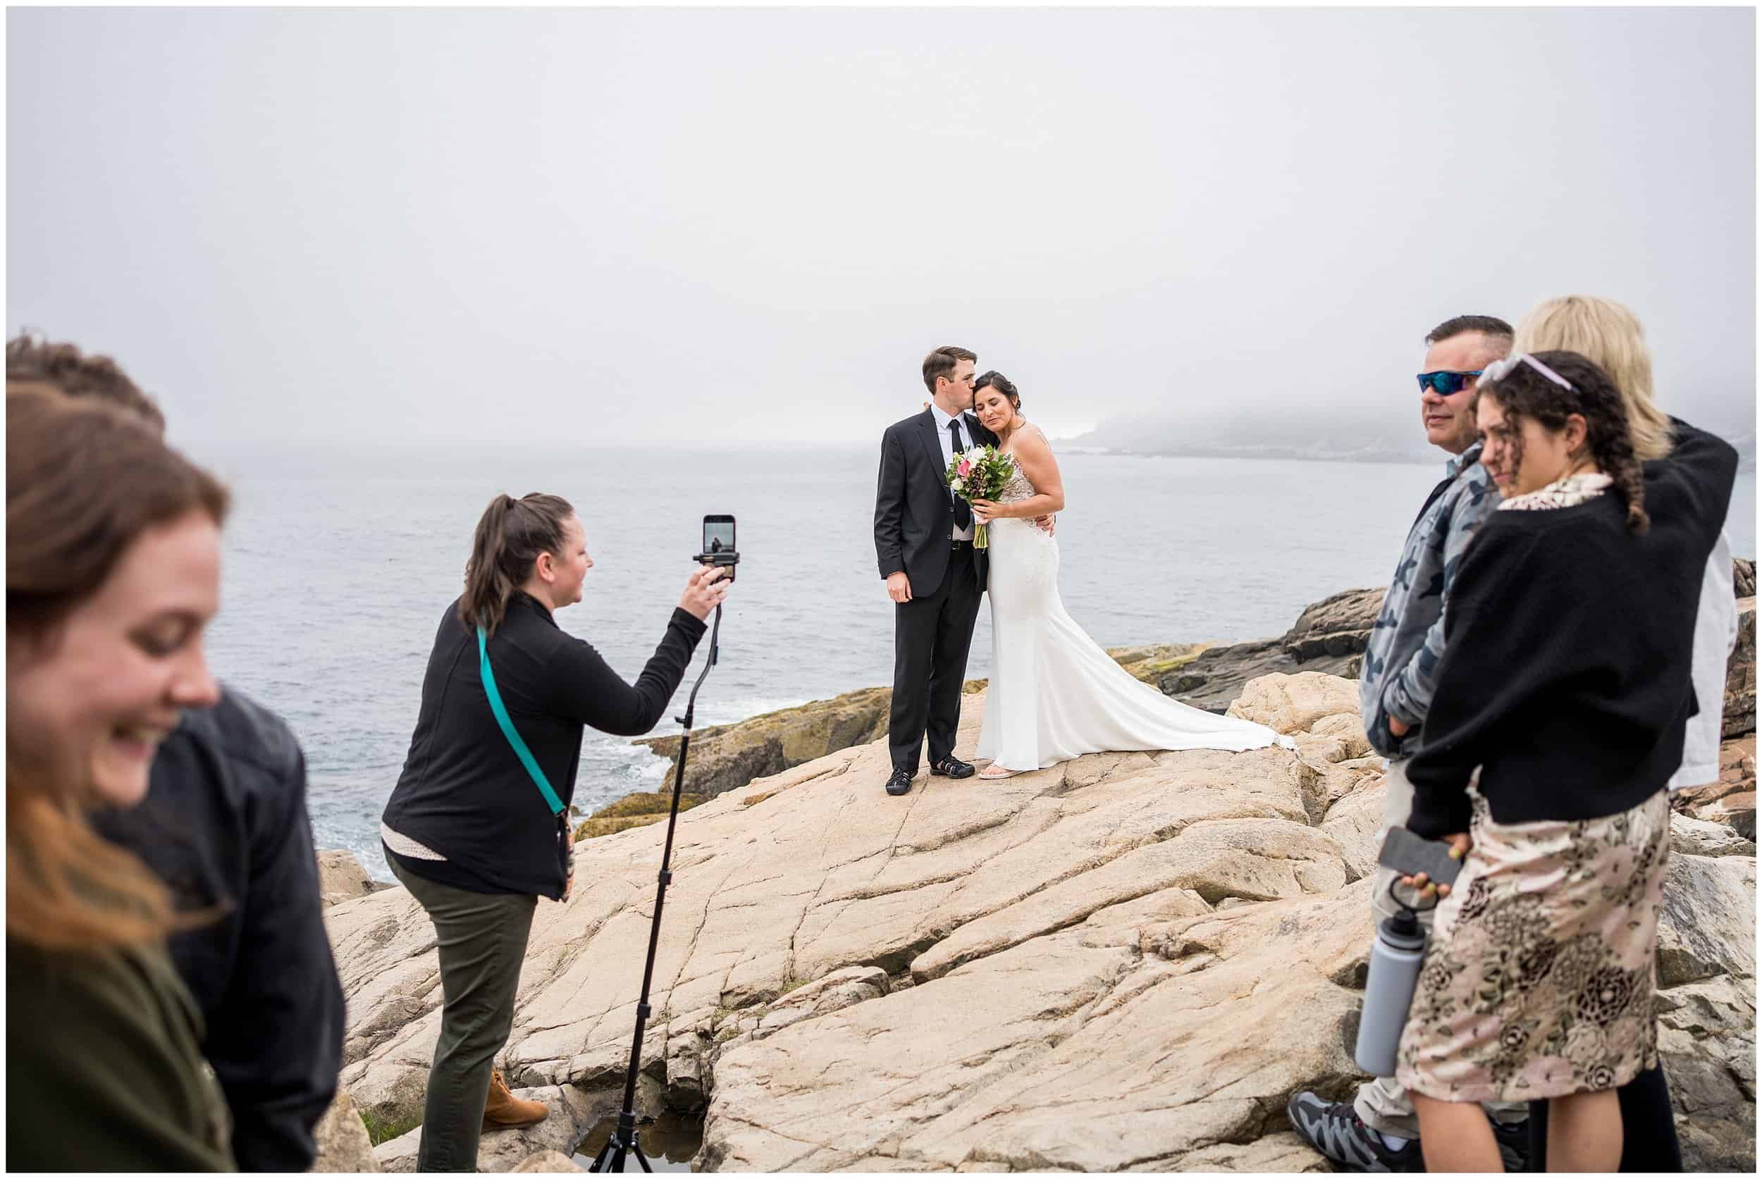
[[[1628,407],[1633,455],[1642,462],[1670,453],[1670,418],[1653,402],[1651,349],[1639,315],[1614,300],[1565,294],[1538,303],[1517,324],[1514,352],[1579,352],[1609,374]]]

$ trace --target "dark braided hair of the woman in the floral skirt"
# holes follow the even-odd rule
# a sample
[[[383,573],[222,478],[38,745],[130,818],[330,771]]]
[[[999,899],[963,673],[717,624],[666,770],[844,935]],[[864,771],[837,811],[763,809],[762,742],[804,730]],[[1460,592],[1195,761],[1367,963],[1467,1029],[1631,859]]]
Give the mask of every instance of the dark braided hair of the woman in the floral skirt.
[[[1646,476],[1633,453],[1633,435],[1628,430],[1628,404],[1609,374],[1579,352],[1531,352],[1552,368],[1570,389],[1549,381],[1529,365],[1517,363],[1499,381],[1482,379],[1475,388],[1478,397],[1491,397],[1510,418],[1514,434],[1522,418],[1535,418],[1549,432],[1566,428],[1566,418],[1584,418],[1584,446],[1596,465],[1614,481],[1614,492],[1626,504],[1628,532],[1644,536],[1651,527],[1646,516]],[[1522,435],[1514,439],[1512,469],[1524,462]]]

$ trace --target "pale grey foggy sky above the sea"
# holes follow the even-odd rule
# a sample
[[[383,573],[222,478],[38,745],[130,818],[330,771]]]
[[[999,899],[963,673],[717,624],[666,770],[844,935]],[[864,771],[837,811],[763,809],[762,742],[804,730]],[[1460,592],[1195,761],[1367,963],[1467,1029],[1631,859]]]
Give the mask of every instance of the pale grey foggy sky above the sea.
[[[7,328],[181,441],[1381,405],[1607,294],[1755,414],[1755,14],[9,11]]]

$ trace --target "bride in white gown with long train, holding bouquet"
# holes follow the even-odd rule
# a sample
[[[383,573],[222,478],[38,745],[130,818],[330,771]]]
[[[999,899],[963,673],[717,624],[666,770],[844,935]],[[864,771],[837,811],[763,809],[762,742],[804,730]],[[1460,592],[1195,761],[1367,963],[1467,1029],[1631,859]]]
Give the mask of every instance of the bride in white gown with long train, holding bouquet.
[[[1043,770],[1085,753],[1290,745],[1263,724],[1170,700],[1114,663],[1059,601],[1059,543],[1036,516],[1064,509],[1059,463],[999,372],[974,384],[973,412],[1015,465],[997,501],[974,501],[990,532],[992,680],[980,777]]]

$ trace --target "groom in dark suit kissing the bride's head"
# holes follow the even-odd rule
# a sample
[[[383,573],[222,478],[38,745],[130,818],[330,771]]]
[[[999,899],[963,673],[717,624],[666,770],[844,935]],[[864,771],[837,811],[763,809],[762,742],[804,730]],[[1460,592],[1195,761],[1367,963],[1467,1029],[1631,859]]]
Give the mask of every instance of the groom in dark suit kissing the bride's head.
[[[973,548],[973,508],[948,490],[943,474],[957,449],[997,444],[997,435],[966,412],[973,409],[976,360],[964,347],[939,347],[925,356],[930,407],[895,421],[881,435],[876,559],[893,599],[890,795],[911,791],[925,735],[930,774],[973,774],[969,763],[955,758],[955,726],[987,567],[985,552]]]

